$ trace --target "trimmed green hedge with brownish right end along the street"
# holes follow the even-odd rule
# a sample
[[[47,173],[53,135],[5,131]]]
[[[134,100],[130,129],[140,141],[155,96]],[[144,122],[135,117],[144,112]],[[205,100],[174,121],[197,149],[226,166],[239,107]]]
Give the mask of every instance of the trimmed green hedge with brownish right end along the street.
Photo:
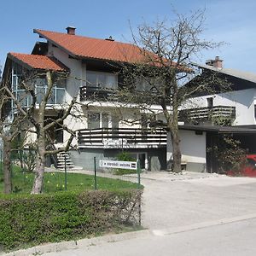
[[[137,225],[142,191],[0,196],[0,251],[96,236]]]

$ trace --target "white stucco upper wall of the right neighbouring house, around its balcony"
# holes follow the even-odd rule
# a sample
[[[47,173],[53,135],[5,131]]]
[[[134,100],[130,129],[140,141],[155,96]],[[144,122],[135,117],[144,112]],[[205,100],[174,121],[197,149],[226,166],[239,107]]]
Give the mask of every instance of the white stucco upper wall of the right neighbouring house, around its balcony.
[[[236,107],[236,119],[233,125],[255,125],[254,104],[256,89],[234,90],[217,95],[199,96],[190,99],[184,105],[186,108],[207,107],[207,98],[213,98],[213,106]]]

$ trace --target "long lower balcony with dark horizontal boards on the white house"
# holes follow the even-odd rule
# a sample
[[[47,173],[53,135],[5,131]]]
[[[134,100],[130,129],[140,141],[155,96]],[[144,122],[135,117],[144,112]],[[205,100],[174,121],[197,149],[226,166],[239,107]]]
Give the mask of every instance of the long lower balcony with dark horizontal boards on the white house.
[[[82,129],[79,148],[158,148],[166,146],[166,131],[140,128]]]

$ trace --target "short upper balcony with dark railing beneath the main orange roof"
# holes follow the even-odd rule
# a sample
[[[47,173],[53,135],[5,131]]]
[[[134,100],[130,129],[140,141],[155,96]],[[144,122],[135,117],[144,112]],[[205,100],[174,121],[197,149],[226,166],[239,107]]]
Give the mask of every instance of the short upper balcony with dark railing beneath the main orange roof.
[[[117,96],[115,97],[117,90],[97,87],[97,86],[83,86],[80,87],[80,102],[84,101],[116,101]]]

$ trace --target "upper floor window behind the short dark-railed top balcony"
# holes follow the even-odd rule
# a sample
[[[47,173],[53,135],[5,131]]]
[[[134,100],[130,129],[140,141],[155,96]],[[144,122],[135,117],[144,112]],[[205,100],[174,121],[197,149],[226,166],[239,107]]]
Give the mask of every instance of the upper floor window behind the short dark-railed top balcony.
[[[118,76],[113,73],[86,72],[86,84],[91,87],[118,88]]]

